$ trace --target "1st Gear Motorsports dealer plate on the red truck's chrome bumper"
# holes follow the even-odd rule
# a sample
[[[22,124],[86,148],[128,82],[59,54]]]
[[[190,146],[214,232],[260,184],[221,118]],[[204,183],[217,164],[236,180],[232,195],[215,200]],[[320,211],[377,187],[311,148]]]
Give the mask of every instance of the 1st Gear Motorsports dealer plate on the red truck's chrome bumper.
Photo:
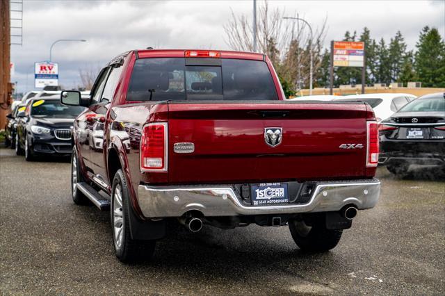
[[[254,206],[282,204],[289,202],[287,184],[260,183],[250,186],[252,204]]]

